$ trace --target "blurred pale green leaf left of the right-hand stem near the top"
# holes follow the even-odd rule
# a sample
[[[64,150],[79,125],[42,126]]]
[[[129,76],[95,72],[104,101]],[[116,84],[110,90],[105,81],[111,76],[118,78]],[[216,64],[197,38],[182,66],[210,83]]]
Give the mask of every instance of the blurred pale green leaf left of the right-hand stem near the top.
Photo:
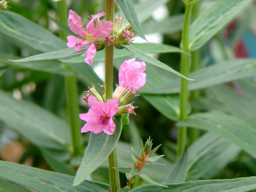
[[[148,10],[148,7],[147,9],[143,9],[143,10]],[[164,19],[162,21],[149,19],[147,20],[147,22],[144,22],[141,25],[141,27],[143,31],[145,31],[145,34],[151,34],[151,33],[171,34],[174,32],[181,31],[183,27],[183,20],[184,20],[183,14],[175,15],[167,19]]]

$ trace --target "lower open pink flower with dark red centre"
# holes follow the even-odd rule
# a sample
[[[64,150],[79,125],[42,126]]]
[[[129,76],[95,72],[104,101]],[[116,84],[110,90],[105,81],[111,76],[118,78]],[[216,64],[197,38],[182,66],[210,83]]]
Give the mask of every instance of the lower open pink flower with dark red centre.
[[[112,117],[119,110],[118,99],[108,99],[107,103],[98,101],[96,97],[89,96],[88,105],[91,107],[88,113],[80,114],[80,119],[86,121],[81,132],[92,131],[96,134],[105,132],[108,135],[113,135],[116,125]]]

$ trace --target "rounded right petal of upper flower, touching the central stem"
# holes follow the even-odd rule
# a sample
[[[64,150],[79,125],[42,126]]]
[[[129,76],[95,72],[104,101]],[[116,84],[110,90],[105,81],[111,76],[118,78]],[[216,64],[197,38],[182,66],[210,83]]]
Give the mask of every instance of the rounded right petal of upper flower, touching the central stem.
[[[92,30],[94,39],[102,39],[110,35],[114,27],[111,21],[100,21]]]

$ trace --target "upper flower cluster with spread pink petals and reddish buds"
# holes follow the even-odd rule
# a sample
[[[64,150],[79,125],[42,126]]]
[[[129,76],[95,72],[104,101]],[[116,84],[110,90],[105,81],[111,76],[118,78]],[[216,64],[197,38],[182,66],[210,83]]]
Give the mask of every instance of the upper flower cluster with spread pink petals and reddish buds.
[[[95,57],[97,50],[106,47],[108,44],[115,44],[117,48],[123,48],[118,45],[132,44],[131,38],[135,36],[130,24],[121,29],[123,18],[116,17],[113,24],[111,21],[100,21],[99,18],[104,15],[104,12],[93,15],[84,29],[81,17],[76,12],[69,10],[68,26],[78,37],[67,36],[67,46],[69,48],[74,47],[75,51],[79,51],[85,45],[89,45],[85,51],[84,59],[89,65],[93,64],[92,59]],[[112,31],[113,36],[111,36]]]

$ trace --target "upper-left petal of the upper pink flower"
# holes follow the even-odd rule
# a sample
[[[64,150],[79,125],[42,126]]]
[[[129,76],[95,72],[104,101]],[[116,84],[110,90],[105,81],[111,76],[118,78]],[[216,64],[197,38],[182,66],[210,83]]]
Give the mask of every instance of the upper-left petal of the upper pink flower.
[[[68,27],[77,35],[85,35],[81,17],[72,10],[69,10],[68,14]]]

